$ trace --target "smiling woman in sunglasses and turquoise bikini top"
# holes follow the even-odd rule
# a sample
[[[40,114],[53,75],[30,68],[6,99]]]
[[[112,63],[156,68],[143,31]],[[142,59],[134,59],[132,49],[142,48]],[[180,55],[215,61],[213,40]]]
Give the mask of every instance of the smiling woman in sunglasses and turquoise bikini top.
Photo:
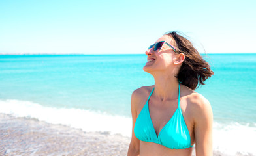
[[[213,114],[210,103],[195,92],[213,75],[191,42],[167,32],[146,51],[143,70],[155,85],[131,96],[133,133],[128,155],[212,155]]]

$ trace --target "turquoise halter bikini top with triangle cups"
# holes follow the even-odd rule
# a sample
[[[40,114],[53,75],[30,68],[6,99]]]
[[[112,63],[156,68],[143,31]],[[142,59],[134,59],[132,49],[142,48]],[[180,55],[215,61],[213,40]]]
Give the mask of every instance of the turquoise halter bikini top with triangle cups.
[[[155,88],[153,88],[154,90]],[[150,96],[153,93],[150,93]],[[148,97],[148,101],[150,99]],[[172,118],[161,129],[159,135],[155,133],[153,123],[150,117],[150,111],[148,109],[148,101],[138,114],[135,122],[134,133],[135,136],[144,142],[154,142],[161,144],[171,149],[184,149],[190,148],[190,135],[185,120],[182,115],[182,109],[180,108],[180,83],[179,83],[179,96],[178,96],[178,108],[174,112]]]

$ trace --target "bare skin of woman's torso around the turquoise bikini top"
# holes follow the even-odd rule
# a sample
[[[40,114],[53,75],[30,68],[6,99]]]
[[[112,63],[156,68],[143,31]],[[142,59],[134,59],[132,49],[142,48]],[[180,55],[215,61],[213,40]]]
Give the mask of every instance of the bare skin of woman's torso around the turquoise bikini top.
[[[138,103],[137,115],[144,107],[150,92],[152,92],[154,86],[144,86],[140,88],[142,91],[141,101]],[[191,105],[189,96],[195,94],[193,90],[190,90],[184,85],[180,85],[180,107],[182,109],[182,114],[189,131],[191,145],[195,144],[195,134],[194,134],[194,121],[193,113],[191,112]],[[191,97],[190,97],[191,98]],[[160,102],[161,103],[161,102]],[[154,98],[152,95],[148,101],[150,117],[152,119],[153,127],[157,136],[161,129],[166,125],[166,123],[172,118],[172,115],[178,107],[178,98],[173,100],[165,101],[159,105],[159,100]],[[193,148],[185,149],[170,149],[160,144],[155,144],[153,142],[140,141],[140,155],[191,155]]]

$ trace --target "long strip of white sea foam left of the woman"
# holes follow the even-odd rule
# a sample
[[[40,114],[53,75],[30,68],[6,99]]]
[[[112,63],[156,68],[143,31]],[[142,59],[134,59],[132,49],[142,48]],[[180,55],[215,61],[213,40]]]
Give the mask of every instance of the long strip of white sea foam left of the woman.
[[[102,131],[131,136],[131,118],[111,116],[82,109],[44,107],[29,101],[0,100],[0,113],[16,117],[37,118],[54,124],[69,125],[84,131]]]

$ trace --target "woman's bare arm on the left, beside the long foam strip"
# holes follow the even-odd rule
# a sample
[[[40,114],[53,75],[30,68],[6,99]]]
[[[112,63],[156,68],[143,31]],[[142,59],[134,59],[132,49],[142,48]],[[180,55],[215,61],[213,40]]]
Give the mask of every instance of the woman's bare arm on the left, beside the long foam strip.
[[[134,133],[135,122],[138,116],[137,110],[138,110],[139,101],[140,101],[140,90],[137,89],[131,95],[131,115],[133,118],[133,129],[132,129],[131,143],[129,146],[128,155],[139,155],[140,153],[140,140],[136,138]]]

